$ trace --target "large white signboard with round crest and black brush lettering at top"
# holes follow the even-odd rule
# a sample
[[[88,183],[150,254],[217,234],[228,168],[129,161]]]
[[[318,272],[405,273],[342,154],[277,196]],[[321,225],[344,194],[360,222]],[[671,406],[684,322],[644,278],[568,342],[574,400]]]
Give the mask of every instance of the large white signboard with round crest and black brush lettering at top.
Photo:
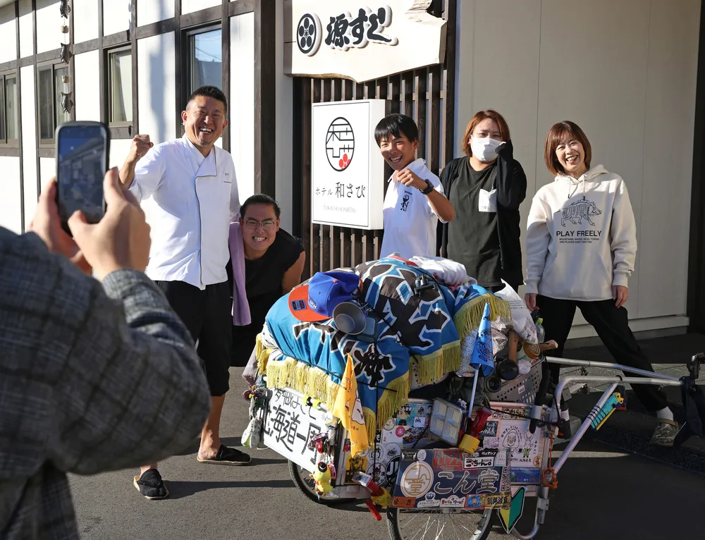
[[[431,0],[288,0],[285,73],[365,82],[443,63]]]

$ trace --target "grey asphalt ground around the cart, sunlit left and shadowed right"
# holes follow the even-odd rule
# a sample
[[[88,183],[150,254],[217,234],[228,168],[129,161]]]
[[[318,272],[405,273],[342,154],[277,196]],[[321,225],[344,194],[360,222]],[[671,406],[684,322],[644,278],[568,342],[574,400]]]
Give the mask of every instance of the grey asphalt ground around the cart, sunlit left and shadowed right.
[[[247,424],[241,368],[231,369],[233,390],[223,411],[223,442],[238,446]],[[243,383],[244,384],[244,383]],[[617,414],[617,413],[615,413]],[[620,413],[628,414],[628,413]],[[638,413],[635,413],[638,414]],[[624,417],[623,417],[624,418]],[[556,446],[554,458],[562,447]],[[132,484],[134,470],[71,477],[80,534],[87,540],[364,539],[388,538],[364,505],[326,508],[307,500],[290,481],[286,461],[272,450],[252,450],[250,467],[196,461],[197,440],[161,464],[171,496],[147,501]],[[539,540],[702,539],[697,517],[705,477],[583,441],[558,475]],[[517,525],[528,532],[531,503]],[[490,538],[508,538],[496,526]]]

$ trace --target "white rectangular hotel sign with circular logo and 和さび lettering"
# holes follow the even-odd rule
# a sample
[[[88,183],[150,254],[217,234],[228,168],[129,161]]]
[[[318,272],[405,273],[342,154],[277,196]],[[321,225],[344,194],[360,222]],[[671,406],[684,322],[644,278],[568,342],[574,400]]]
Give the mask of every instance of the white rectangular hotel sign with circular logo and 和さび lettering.
[[[386,111],[384,99],[313,104],[313,223],[383,228],[384,159],[373,132]]]

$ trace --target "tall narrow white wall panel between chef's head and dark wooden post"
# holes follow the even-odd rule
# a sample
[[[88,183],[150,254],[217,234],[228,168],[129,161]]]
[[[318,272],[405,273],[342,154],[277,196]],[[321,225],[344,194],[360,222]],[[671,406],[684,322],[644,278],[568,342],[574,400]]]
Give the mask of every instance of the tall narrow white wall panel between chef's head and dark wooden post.
[[[230,19],[230,147],[240,202],[255,192],[255,14]],[[271,126],[276,130],[274,126]]]

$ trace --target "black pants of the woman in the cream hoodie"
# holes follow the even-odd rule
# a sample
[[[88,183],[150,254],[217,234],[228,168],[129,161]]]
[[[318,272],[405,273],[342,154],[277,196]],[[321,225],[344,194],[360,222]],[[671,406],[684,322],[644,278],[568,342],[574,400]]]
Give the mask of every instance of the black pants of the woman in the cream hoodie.
[[[548,355],[563,357],[563,346],[568,339],[575,308],[580,307],[582,316],[593,326],[615,362],[649,372],[654,371],[651,362],[639,348],[639,343],[629,328],[627,309],[624,307],[618,309],[614,300],[576,302],[539,295],[536,303],[544,319],[546,341],[553,339],[558,343],[558,349],[548,352]],[[558,381],[559,371],[559,366],[551,366],[551,376],[554,381]],[[635,375],[627,374],[627,376]],[[637,384],[632,385],[632,388],[647,410],[654,412],[668,406],[666,395],[659,390],[658,386]]]

